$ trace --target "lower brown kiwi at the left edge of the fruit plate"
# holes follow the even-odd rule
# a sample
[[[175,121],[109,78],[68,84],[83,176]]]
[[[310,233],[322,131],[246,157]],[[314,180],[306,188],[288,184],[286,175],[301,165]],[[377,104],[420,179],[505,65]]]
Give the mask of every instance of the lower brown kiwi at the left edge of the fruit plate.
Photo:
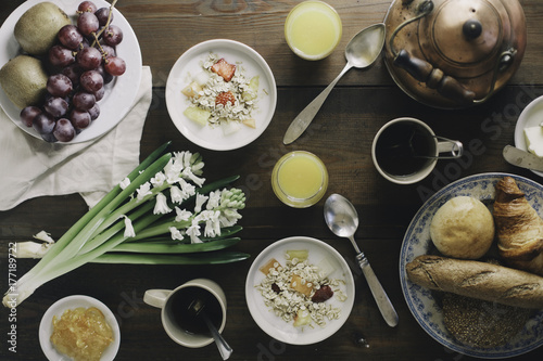
[[[0,86],[20,108],[43,102],[48,75],[40,60],[17,55],[0,68]]]

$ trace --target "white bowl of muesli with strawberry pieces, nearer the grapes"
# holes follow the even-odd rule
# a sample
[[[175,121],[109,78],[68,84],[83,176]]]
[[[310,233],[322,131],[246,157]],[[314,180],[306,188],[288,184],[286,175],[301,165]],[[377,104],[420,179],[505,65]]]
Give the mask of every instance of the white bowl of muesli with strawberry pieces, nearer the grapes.
[[[166,105],[177,129],[214,151],[242,147],[272,121],[277,89],[272,69],[252,48],[214,39],[187,50],[166,82]]]

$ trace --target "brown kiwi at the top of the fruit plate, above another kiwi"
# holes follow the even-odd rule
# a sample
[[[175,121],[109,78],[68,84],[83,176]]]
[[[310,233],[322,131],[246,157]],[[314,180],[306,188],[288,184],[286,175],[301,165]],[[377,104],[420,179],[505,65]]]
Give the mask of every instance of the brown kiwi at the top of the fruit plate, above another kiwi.
[[[52,2],[40,2],[18,18],[14,35],[24,52],[43,55],[56,41],[59,30],[68,24],[72,22],[62,9]]]

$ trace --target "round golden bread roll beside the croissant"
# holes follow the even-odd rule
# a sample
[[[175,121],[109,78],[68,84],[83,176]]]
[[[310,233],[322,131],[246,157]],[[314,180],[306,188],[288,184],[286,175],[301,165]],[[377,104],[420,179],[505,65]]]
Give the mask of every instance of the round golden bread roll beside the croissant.
[[[487,206],[469,196],[449,199],[430,224],[433,244],[444,256],[478,259],[494,240],[494,219]]]

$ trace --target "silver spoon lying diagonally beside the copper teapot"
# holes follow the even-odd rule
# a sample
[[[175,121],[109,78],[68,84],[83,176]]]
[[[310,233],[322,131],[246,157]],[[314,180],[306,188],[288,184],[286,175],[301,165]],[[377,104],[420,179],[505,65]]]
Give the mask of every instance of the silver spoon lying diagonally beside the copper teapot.
[[[307,129],[311,121],[317,115],[326,98],[339,81],[339,79],[352,67],[365,68],[371,65],[384,43],[384,24],[371,25],[356,34],[345,48],[346,65],[336,79],[323,90],[299,115],[292,120],[289,129],[285,133],[282,142],[290,144],[295,141]]]

